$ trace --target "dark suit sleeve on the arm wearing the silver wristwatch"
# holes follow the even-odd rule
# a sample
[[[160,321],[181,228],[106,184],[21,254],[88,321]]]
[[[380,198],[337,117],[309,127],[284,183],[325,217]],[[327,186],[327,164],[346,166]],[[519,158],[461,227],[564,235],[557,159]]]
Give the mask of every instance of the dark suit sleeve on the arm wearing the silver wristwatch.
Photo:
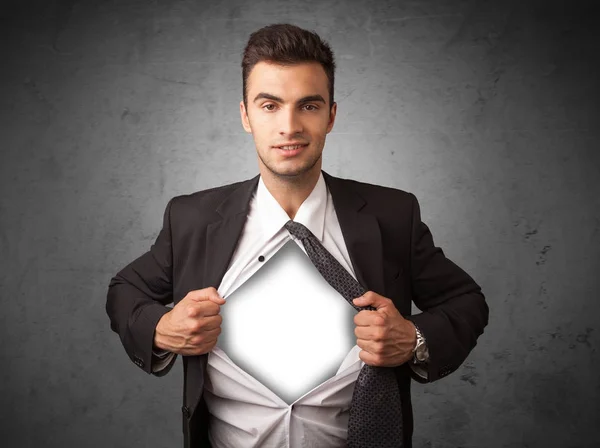
[[[427,378],[411,369],[417,382],[436,381],[454,372],[477,344],[488,324],[489,308],[481,287],[436,247],[421,221],[419,202],[412,196],[410,278],[413,301],[423,312],[406,317],[427,341]]]

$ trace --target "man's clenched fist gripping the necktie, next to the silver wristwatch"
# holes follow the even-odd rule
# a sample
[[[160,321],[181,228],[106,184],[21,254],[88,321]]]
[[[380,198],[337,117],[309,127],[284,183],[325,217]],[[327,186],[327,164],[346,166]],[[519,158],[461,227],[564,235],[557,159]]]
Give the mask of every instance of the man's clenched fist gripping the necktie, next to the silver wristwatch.
[[[354,299],[356,306],[372,306],[354,316],[356,345],[360,359],[370,366],[396,367],[412,359],[417,343],[414,324],[402,317],[391,299],[367,291]]]

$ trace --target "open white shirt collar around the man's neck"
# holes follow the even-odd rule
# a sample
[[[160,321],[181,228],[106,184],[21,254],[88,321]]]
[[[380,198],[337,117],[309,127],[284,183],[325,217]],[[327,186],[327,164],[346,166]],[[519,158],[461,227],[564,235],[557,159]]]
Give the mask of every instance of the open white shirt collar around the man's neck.
[[[300,205],[294,217],[294,221],[306,226],[320,242],[323,242],[326,206],[327,185],[321,172],[315,187]],[[256,189],[256,213],[263,236],[267,239],[279,232],[285,223],[290,220],[288,214],[267,189],[262,176]]]

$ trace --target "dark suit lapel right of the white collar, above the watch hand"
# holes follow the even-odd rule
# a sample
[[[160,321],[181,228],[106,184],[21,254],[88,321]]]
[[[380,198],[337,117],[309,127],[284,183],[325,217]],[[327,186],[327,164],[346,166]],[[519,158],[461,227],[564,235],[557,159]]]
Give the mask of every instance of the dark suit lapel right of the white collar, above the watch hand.
[[[365,211],[367,202],[349,182],[323,171],[333,198],[344,242],[359,283],[383,295],[383,251],[377,218]]]

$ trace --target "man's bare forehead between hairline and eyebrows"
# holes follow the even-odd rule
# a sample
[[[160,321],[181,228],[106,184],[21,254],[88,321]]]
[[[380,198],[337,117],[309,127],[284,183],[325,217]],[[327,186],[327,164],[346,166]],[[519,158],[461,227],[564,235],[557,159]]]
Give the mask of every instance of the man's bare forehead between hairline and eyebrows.
[[[290,94],[326,94],[327,89],[327,74],[318,62],[281,65],[261,61],[248,76],[249,94],[268,92],[285,98]]]

